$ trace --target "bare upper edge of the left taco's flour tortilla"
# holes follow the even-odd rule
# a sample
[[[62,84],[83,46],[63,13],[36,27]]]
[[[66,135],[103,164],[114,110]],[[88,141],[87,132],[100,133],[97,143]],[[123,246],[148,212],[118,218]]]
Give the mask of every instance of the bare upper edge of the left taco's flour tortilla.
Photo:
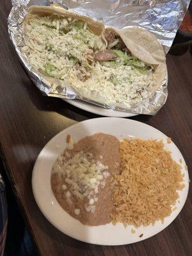
[[[72,19],[87,22],[88,28],[90,28],[95,35],[101,36],[103,42],[107,45],[106,39],[104,38],[105,27],[102,22],[93,20],[90,17],[78,15],[77,13],[67,11],[63,7],[56,4],[52,4],[52,6],[30,6],[28,9],[28,13],[24,19],[24,24],[26,24],[30,19],[33,19],[33,17],[40,17],[46,15],[51,17],[70,17]]]

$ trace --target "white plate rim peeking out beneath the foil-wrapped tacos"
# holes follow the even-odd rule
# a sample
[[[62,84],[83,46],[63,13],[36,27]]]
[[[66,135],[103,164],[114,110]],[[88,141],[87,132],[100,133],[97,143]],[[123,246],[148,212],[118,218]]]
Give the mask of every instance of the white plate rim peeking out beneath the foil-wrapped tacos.
[[[124,111],[117,111],[113,109],[102,108],[97,105],[91,104],[89,102],[85,102],[83,100],[65,100],[67,103],[75,106],[77,108],[83,109],[93,114],[97,114],[100,116],[112,116],[112,117],[131,117],[137,116],[138,114],[127,113]]]

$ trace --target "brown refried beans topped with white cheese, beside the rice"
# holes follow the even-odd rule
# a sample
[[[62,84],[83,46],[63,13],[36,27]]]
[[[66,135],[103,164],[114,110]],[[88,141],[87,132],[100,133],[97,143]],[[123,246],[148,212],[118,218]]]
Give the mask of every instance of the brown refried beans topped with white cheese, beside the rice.
[[[114,207],[112,177],[120,173],[119,141],[115,136],[97,133],[70,149],[52,166],[54,196],[68,214],[83,224],[110,223]]]

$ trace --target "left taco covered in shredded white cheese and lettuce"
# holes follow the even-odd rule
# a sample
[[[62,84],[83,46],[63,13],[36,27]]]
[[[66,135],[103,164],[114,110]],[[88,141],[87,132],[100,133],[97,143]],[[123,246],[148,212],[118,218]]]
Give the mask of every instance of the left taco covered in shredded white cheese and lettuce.
[[[106,48],[104,24],[60,6],[31,6],[23,23],[29,64],[44,75],[90,77],[93,54]]]

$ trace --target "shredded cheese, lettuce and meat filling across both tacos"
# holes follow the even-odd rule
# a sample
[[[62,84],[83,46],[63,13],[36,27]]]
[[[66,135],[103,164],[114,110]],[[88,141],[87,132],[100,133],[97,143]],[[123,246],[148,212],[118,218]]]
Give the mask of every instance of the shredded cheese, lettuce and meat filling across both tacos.
[[[154,86],[154,68],[134,57],[113,31],[105,40],[85,20],[34,15],[24,26],[22,50],[31,67],[62,79],[86,95],[99,93],[106,104],[138,102]]]

